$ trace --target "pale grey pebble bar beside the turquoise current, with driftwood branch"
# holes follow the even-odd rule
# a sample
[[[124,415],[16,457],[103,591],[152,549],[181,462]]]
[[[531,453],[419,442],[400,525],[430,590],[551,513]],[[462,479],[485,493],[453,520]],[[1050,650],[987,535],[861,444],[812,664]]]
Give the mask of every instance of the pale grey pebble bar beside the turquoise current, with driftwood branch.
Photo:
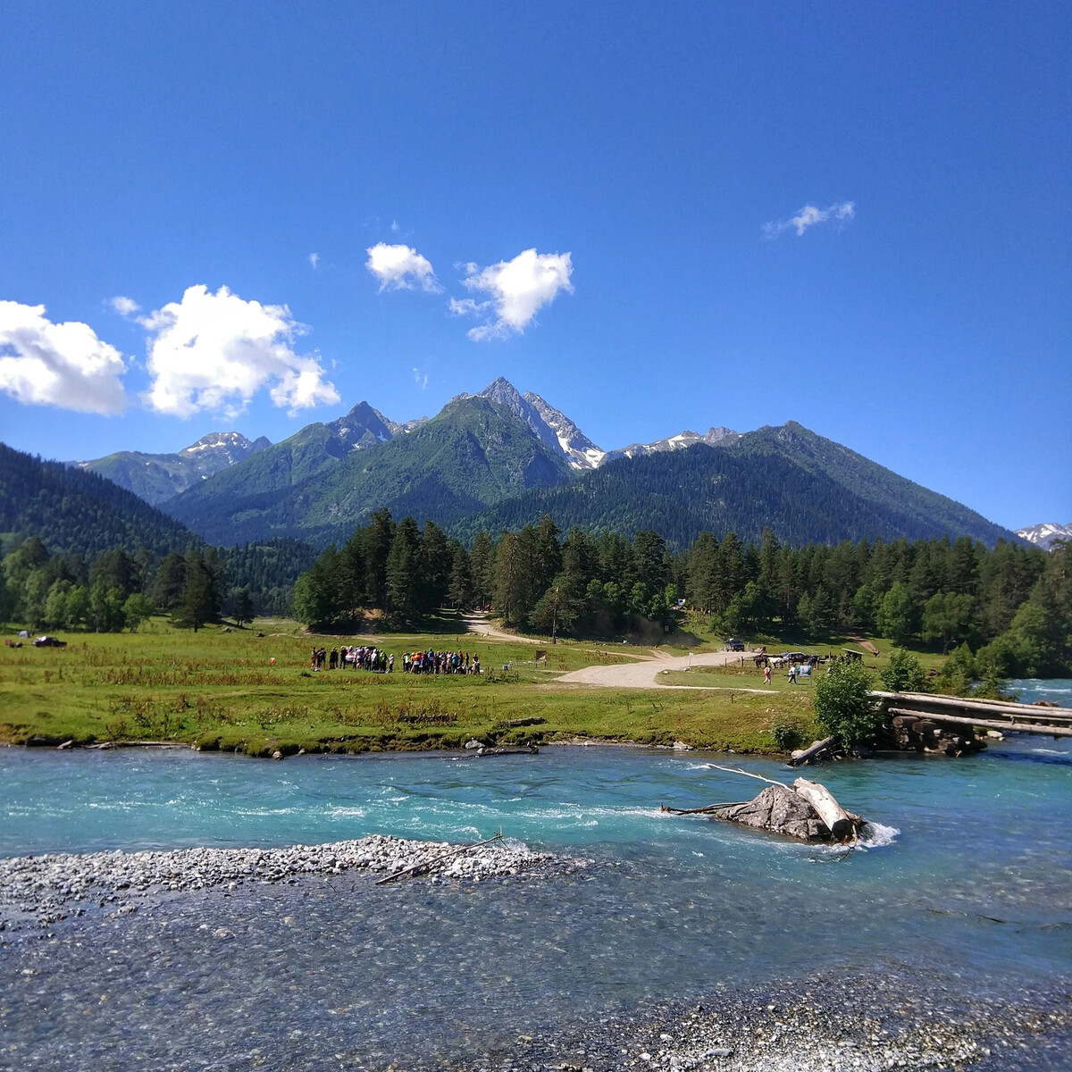
[[[134,898],[151,894],[213,887],[235,890],[244,882],[297,881],[303,876],[340,875],[352,868],[386,875],[429,865],[421,874],[431,881],[479,881],[566,863],[552,853],[535,852],[512,840],[495,840],[448,855],[462,848],[444,842],[372,834],[359,840],[283,849],[116,850],[12,857],[0,859],[0,930],[12,927],[18,918],[35,919],[47,926],[68,914],[84,914],[91,905],[134,911]]]

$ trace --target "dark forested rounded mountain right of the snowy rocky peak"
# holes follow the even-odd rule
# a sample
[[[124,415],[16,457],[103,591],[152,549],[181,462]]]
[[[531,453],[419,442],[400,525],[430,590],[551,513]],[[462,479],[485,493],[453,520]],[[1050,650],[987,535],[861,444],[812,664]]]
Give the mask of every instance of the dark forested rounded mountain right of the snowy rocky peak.
[[[678,548],[704,530],[757,540],[770,528],[793,545],[962,535],[988,545],[1016,539],[973,510],[800,426],[751,432],[732,446],[698,443],[619,459],[569,483],[498,503],[451,532],[468,540],[480,528],[519,528],[544,513],[563,528],[654,530]]]

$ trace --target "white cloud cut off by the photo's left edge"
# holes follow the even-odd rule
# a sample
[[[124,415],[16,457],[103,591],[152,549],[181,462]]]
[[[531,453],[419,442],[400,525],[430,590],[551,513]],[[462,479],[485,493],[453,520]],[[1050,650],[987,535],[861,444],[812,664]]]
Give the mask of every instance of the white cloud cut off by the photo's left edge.
[[[122,354],[88,324],[54,324],[44,306],[0,301],[0,390],[19,402],[120,413]]]

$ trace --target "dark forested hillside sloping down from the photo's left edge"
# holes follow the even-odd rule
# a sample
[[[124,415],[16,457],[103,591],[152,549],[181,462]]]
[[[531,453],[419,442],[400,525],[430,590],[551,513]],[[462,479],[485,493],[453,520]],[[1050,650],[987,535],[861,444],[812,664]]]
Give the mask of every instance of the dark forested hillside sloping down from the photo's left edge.
[[[56,551],[92,557],[113,548],[154,554],[200,544],[162,513],[95,473],[46,462],[0,444],[0,534],[39,536]]]

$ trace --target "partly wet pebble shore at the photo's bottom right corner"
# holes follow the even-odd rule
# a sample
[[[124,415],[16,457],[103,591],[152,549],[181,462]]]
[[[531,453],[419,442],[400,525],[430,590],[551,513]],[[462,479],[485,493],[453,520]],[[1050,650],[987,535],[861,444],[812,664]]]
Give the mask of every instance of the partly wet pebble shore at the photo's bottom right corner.
[[[914,988],[913,988],[914,987]],[[1066,1069],[1068,994],[965,1001],[938,980],[815,974],[751,992],[668,1003],[610,1021],[548,1060],[550,1040],[523,1037],[540,1060],[476,1063],[471,1072],[884,1072],[890,1069]]]

